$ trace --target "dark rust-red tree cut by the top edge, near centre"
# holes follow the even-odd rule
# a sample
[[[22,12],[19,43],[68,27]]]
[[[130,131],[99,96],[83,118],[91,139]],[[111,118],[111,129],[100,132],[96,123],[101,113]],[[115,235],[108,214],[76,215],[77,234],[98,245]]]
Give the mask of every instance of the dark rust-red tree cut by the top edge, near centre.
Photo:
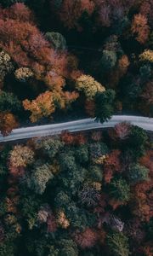
[[[77,27],[78,30],[82,30],[78,20],[84,12],[88,15],[93,14],[94,2],[92,0],[64,0],[59,10],[59,18],[69,29]]]

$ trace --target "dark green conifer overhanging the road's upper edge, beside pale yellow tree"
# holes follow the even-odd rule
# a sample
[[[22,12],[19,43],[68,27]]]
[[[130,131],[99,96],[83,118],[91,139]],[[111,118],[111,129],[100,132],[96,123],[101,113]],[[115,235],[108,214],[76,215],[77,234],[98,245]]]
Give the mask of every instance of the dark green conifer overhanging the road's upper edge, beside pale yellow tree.
[[[115,96],[115,91],[111,89],[95,96],[95,117],[101,123],[111,119]]]

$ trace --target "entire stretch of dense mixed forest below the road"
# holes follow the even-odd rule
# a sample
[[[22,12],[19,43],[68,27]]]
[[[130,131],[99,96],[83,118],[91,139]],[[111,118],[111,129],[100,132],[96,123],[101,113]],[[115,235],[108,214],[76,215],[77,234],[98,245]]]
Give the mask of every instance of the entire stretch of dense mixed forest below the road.
[[[153,152],[122,123],[0,148],[0,256],[152,255]]]

